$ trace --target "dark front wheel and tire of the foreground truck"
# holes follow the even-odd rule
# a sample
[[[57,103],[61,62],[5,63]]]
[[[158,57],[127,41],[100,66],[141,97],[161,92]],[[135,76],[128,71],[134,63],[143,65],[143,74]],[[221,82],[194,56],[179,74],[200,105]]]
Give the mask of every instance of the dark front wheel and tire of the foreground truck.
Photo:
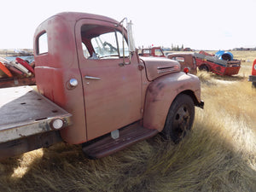
[[[173,143],[179,143],[191,129],[194,118],[195,106],[192,98],[184,94],[178,95],[167,114],[162,136]]]

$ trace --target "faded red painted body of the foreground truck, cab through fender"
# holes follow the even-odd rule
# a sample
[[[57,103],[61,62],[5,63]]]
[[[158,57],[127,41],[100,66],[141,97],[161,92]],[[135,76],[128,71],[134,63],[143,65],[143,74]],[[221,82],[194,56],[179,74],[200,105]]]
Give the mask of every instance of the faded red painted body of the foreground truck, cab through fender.
[[[73,125],[61,131],[67,143],[84,143],[137,121],[161,131],[173,99],[191,91],[201,102],[200,81],[181,73],[177,61],[128,57],[90,59],[91,38],[122,32],[119,22],[100,15],[61,13],[35,32],[35,73],[38,90],[73,114]],[[48,52],[39,54],[38,38],[46,32]],[[125,39],[127,39],[125,31]],[[89,78],[88,78],[89,77]],[[92,79],[91,79],[92,78]],[[70,79],[78,85],[71,87]]]

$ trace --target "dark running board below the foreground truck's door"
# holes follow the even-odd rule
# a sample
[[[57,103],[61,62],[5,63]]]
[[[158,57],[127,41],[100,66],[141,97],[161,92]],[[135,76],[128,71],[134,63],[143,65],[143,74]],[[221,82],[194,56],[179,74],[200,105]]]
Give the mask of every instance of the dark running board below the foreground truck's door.
[[[159,131],[149,130],[141,125],[133,124],[119,130],[119,138],[113,139],[111,134],[84,143],[82,149],[90,159],[98,159],[113,154],[131,144],[154,137]]]

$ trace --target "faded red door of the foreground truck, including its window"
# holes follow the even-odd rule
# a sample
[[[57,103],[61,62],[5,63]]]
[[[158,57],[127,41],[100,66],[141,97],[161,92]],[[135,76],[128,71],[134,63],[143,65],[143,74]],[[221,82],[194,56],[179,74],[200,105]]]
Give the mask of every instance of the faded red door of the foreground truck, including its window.
[[[120,26],[84,19],[75,30],[91,140],[142,118],[141,72],[136,56],[123,64],[130,59],[126,41],[123,49]]]

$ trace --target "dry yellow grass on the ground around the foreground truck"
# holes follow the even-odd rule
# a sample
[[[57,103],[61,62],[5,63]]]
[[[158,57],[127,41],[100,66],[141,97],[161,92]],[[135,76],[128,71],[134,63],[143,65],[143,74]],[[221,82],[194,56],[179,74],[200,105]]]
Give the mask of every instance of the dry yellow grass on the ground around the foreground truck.
[[[233,54],[243,60],[236,77],[198,74],[205,109],[182,143],[154,137],[101,160],[79,146],[38,149],[0,162],[0,190],[256,191],[256,90],[247,82],[256,52]]]

